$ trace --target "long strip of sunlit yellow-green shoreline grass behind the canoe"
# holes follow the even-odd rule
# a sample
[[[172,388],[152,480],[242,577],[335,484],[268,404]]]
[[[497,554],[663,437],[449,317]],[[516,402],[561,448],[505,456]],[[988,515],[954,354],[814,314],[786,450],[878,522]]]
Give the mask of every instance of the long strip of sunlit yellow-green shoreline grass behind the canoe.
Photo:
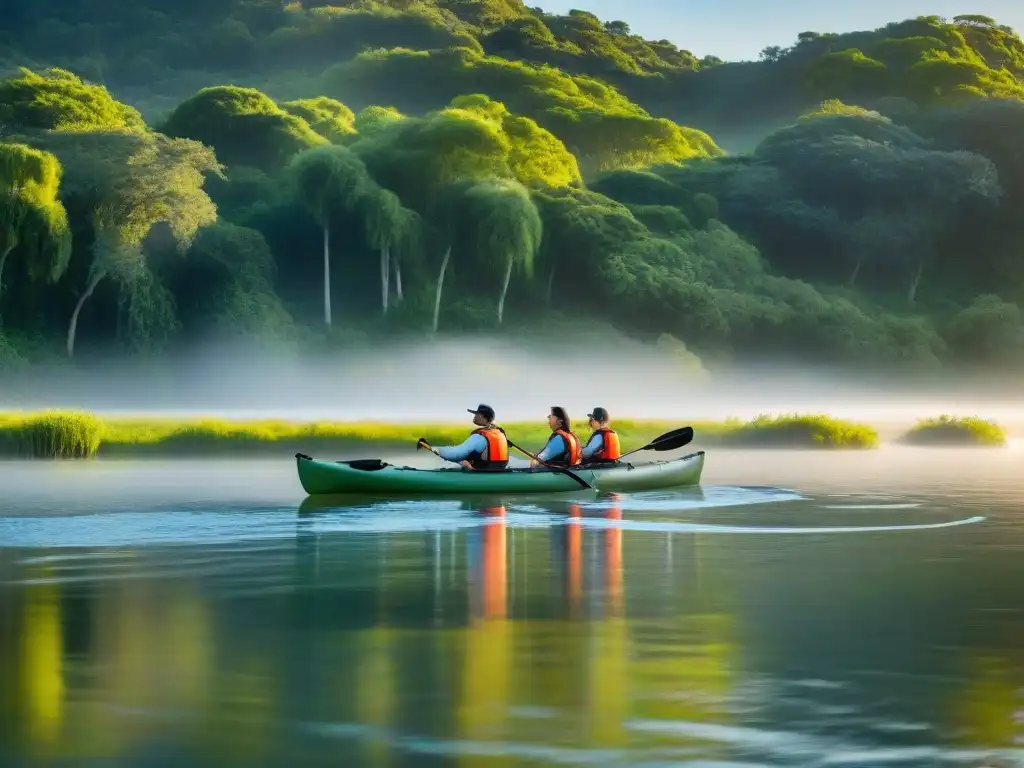
[[[870,450],[880,444],[868,425],[825,415],[763,415],[748,422],[691,422],[693,450],[706,447]],[[616,420],[625,451],[639,447],[683,422]],[[524,447],[545,441],[543,424],[503,427]],[[575,425],[586,435],[586,424]],[[224,419],[104,419],[83,412],[0,413],[0,459],[184,458],[280,455],[352,451],[414,451],[417,438],[435,444],[465,439],[465,424],[388,424],[378,422],[289,422]],[[950,436],[952,435],[952,436]],[[1001,441],[996,441],[1000,437]],[[976,418],[921,422],[901,442],[910,444],[1006,444],[997,425]],[[689,449],[689,446],[688,446]],[[514,453],[514,452],[513,452]],[[651,455],[652,456],[652,455]]]

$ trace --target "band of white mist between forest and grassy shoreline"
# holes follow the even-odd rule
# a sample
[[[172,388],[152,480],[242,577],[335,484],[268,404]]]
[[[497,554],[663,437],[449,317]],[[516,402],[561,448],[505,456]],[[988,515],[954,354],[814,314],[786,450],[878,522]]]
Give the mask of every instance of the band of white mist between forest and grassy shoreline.
[[[61,369],[4,384],[0,409],[454,421],[469,406],[486,402],[500,420],[512,421],[543,419],[552,404],[583,418],[600,404],[613,417],[687,421],[828,413],[884,431],[940,414],[976,415],[1024,432],[1021,393],[994,381],[852,376],[782,362],[710,368],[604,329],[537,341],[389,341],[305,356],[209,345],[187,358]]]

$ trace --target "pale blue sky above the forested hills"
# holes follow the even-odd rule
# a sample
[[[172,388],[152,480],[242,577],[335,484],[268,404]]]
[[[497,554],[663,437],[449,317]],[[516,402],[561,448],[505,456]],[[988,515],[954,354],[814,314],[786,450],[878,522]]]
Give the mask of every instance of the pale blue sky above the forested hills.
[[[982,13],[1024,32],[1024,0],[541,0],[540,5],[550,13],[579,8],[605,22],[621,19],[645,38],[726,60],[756,59],[765,46],[791,45],[801,32],[873,30],[922,15]]]

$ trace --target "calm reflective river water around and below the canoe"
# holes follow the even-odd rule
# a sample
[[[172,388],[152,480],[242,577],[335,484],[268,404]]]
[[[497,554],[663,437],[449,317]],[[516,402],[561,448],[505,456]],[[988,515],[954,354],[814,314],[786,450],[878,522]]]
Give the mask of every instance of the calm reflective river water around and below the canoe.
[[[0,464],[0,765],[1024,766],[1024,451],[302,504]]]

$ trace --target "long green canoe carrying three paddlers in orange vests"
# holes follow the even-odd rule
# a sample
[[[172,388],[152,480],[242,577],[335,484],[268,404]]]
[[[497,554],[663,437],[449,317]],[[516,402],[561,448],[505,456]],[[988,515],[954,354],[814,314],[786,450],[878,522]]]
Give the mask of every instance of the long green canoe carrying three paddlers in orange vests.
[[[501,472],[462,468],[415,469],[378,459],[323,462],[296,454],[299,482],[310,496],[333,494],[558,494],[580,490],[571,477],[551,469],[509,469]],[[696,485],[705,453],[651,464],[620,464],[573,469],[600,492],[652,490]]]

